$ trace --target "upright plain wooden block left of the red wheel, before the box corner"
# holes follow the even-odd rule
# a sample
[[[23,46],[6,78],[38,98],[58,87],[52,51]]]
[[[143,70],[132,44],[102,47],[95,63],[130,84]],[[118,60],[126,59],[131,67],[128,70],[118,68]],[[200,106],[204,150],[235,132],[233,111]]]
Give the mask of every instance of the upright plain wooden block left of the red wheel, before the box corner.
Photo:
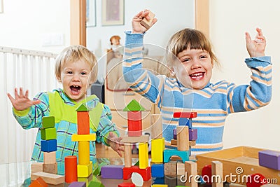
[[[193,161],[186,161],[185,162],[185,174],[188,175],[186,179],[186,186],[190,187],[197,187],[197,179],[195,178],[197,176],[197,163]],[[190,177],[192,175],[193,177]]]

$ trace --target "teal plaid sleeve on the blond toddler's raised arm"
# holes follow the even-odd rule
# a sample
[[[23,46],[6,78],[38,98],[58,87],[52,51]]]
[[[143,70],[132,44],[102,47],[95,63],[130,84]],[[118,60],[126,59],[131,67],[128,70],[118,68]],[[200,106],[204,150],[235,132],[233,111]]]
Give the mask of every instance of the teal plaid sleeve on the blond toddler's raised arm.
[[[41,127],[43,116],[48,116],[50,113],[48,94],[46,92],[38,93],[34,100],[41,100],[41,103],[31,106],[25,110],[26,113],[20,113],[20,111],[13,109],[15,119],[24,129]]]

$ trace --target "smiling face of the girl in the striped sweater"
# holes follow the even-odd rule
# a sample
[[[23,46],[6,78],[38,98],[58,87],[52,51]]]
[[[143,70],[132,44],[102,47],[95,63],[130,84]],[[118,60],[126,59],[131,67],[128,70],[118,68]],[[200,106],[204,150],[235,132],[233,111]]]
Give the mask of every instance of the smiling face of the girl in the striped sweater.
[[[201,90],[209,83],[213,66],[207,51],[187,48],[177,57],[180,61],[174,62],[174,73],[186,88]]]

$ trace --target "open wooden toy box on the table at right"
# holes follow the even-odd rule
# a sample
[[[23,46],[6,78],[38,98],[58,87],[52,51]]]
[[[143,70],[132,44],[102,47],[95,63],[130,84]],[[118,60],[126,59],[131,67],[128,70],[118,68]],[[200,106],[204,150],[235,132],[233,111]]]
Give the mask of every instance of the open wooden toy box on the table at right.
[[[232,176],[232,179],[236,180],[235,183],[246,185],[246,177],[258,173],[265,176],[271,183],[279,184],[280,171],[262,167],[258,164],[258,152],[264,150],[262,148],[238,146],[196,155],[198,174],[202,174],[202,168],[205,165],[211,165],[211,161],[218,160],[223,162],[223,179],[228,175],[228,182],[233,182],[230,181],[230,176]]]

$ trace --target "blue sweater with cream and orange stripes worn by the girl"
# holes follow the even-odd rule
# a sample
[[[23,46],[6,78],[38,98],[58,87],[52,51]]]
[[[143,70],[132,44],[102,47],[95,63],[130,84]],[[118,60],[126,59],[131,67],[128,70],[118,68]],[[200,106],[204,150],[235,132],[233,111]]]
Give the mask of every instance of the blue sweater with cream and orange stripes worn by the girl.
[[[126,32],[123,74],[135,92],[158,105],[162,113],[163,137],[173,139],[178,118],[175,111],[196,111],[193,128],[197,128],[197,144],[192,153],[204,153],[223,148],[225,118],[229,113],[251,111],[265,106],[272,97],[272,64],[270,57],[245,60],[251,69],[250,85],[235,85],[228,81],[208,83],[202,90],[185,88],[176,78],[155,76],[142,68],[144,34]]]

